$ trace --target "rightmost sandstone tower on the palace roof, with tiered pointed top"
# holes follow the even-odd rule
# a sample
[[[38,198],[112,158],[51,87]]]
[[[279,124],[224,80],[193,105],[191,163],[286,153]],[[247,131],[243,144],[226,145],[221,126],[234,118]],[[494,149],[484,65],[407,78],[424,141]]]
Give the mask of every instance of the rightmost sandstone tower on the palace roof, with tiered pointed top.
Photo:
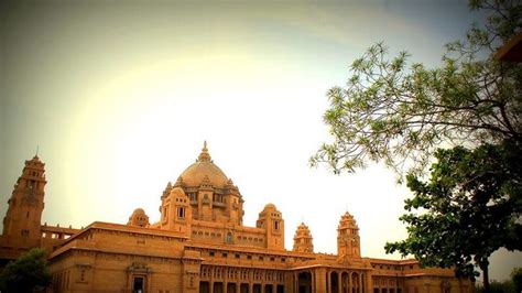
[[[348,211],[340,218],[337,227],[337,254],[339,258],[360,259],[359,227]]]

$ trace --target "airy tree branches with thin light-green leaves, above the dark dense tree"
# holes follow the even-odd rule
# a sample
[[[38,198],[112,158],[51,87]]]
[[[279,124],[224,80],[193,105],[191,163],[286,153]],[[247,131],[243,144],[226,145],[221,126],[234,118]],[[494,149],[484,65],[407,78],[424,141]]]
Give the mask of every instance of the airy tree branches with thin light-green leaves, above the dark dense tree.
[[[389,59],[382,43],[350,67],[347,88],[327,93],[324,115],[334,142],[311,158],[335,173],[383,161],[402,178],[421,174],[442,144],[480,145],[522,138],[522,66],[494,53],[522,28],[520,1],[471,0],[489,11],[485,28],[471,26],[466,41],[446,45],[443,65],[426,68],[400,53]]]

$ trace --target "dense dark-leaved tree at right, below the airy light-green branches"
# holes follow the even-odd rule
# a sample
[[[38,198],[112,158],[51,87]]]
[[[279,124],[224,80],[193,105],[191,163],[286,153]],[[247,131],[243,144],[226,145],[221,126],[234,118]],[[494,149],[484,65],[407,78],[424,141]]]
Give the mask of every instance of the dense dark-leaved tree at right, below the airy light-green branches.
[[[413,198],[405,200],[405,240],[387,243],[388,253],[414,254],[422,265],[455,268],[457,276],[483,272],[501,247],[522,250],[522,148],[519,141],[474,150],[438,150],[431,178],[406,176]]]

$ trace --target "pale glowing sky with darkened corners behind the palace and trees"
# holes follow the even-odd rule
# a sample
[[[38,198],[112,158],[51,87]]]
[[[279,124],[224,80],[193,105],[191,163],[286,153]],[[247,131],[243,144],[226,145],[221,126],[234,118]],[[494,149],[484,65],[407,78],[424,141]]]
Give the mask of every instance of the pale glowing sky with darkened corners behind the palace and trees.
[[[305,223],[316,252],[336,253],[348,210],[362,256],[406,237],[411,196],[381,164],[334,175],[309,167],[328,141],[326,91],[384,42],[390,56],[437,66],[480,15],[466,1],[15,1],[0,8],[0,217],[24,160],[46,163],[42,221],[156,221],[168,181],[204,140],[238,185],[244,225],[268,203],[285,247]],[[494,253],[509,278],[522,253]]]

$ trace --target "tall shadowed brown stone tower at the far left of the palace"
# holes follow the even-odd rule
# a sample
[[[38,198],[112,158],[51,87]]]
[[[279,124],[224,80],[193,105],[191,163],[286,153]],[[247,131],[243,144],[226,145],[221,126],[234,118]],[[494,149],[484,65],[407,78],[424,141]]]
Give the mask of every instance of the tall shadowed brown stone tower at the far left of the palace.
[[[45,164],[35,155],[25,161],[22,175],[14,184],[3,218],[3,238],[11,245],[31,248],[40,245],[44,209]]]

